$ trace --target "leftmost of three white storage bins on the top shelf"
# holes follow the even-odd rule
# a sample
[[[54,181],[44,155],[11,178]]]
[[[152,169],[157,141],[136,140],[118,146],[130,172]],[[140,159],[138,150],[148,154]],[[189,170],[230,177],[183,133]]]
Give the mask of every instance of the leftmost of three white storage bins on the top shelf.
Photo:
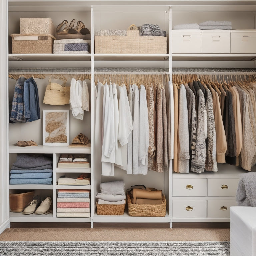
[[[173,30],[172,53],[201,53],[201,30]]]

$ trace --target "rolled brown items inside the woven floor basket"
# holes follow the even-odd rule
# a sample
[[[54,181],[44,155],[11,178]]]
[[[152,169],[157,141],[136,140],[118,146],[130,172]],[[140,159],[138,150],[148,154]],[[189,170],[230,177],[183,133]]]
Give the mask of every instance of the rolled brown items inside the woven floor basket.
[[[162,190],[146,188],[144,185],[130,187],[132,204],[162,204]]]

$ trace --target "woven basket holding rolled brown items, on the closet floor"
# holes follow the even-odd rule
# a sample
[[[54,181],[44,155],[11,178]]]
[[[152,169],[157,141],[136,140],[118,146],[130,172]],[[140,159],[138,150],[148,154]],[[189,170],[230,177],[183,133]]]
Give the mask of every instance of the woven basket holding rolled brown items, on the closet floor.
[[[127,193],[127,205],[129,216],[140,217],[165,217],[166,200],[162,194],[162,204],[132,204],[131,195]]]

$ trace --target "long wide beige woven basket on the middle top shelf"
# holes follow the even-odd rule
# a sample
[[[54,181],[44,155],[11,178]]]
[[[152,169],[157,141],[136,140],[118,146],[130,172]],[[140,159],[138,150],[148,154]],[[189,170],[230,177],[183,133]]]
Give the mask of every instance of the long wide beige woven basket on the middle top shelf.
[[[140,36],[139,30],[127,30],[127,36],[95,36],[95,53],[166,54],[167,39],[164,36]]]

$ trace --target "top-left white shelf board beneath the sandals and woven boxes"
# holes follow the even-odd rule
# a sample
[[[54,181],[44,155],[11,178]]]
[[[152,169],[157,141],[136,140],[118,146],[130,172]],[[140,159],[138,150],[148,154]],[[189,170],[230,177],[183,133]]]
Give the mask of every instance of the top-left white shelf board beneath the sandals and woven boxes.
[[[53,53],[30,53],[30,54],[12,54],[9,55],[9,61],[88,61],[91,60],[91,54],[53,54]]]

